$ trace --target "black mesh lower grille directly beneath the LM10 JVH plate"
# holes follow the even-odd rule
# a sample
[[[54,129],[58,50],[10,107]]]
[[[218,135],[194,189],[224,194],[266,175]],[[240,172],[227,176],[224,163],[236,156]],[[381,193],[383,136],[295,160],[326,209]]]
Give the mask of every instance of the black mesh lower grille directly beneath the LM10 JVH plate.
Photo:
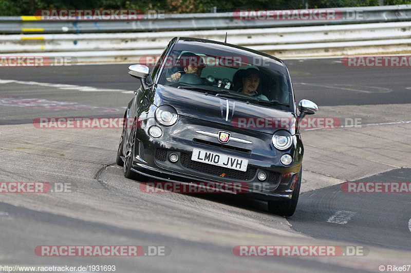
[[[193,161],[191,160],[189,153],[181,153],[181,164],[187,169],[191,169],[200,173],[206,173],[215,176],[221,176],[221,174],[225,174],[225,176],[223,176],[224,178],[231,178],[236,180],[252,180],[257,172],[257,168],[253,166],[248,166],[246,172],[241,172],[221,166]]]

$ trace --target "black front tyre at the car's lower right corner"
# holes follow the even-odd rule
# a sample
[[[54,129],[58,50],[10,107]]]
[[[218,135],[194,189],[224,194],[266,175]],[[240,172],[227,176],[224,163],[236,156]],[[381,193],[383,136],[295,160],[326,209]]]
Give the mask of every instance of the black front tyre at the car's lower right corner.
[[[301,167],[300,174],[298,174],[297,184],[295,185],[294,191],[292,192],[291,199],[289,200],[279,200],[279,201],[268,201],[268,211],[270,213],[278,214],[285,217],[291,217],[298,203],[298,196],[300,196],[301,187],[301,175],[303,173],[303,167]]]

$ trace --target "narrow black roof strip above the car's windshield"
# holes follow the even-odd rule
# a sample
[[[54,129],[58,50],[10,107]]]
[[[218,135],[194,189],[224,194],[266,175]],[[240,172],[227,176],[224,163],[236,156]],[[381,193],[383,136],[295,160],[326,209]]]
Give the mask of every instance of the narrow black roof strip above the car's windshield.
[[[227,50],[227,48],[231,48],[231,50],[236,49],[238,54],[242,53],[242,54],[249,55],[251,53],[251,54],[256,54],[256,55],[259,55],[259,56],[268,57],[268,58],[271,58],[271,59],[273,59],[277,62],[280,62],[283,66],[285,66],[284,61],[282,59],[279,59],[277,57],[271,56],[271,55],[266,54],[264,52],[253,50],[253,49],[250,49],[250,48],[240,47],[240,46],[232,45],[232,44],[229,44],[229,43],[223,43],[223,42],[220,42],[220,41],[201,39],[201,38],[193,38],[193,37],[177,37],[177,38],[179,39],[177,43],[180,43],[180,41],[184,41],[184,42],[189,42],[189,43],[192,42],[193,44],[201,43],[201,46],[209,47],[209,48],[220,48],[222,50]],[[246,52],[244,52],[244,51],[246,51]]]

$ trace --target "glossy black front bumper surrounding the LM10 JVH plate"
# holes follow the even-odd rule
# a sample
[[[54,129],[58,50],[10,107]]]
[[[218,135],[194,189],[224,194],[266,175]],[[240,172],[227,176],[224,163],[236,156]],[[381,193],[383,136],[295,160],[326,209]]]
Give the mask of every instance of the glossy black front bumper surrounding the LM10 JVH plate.
[[[148,134],[148,129],[152,125],[161,127],[163,130],[161,137],[153,138]],[[232,137],[246,139],[253,144],[238,142],[221,144],[216,138],[195,132],[218,132],[219,130],[229,131]],[[136,173],[170,182],[246,184],[246,195],[263,200],[291,198],[293,181],[298,178],[302,163],[303,150],[298,135],[294,137],[293,147],[287,151],[293,156],[294,162],[290,166],[283,166],[279,162],[279,157],[284,152],[273,149],[270,135],[234,127],[227,128],[224,124],[210,124],[207,121],[188,117],[180,116],[179,121],[172,127],[162,127],[154,118],[143,120],[141,127],[137,129],[136,138],[133,157],[133,171]],[[192,161],[194,148],[245,158],[249,161],[247,172]],[[171,152],[179,156],[179,160],[175,163],[169,160]],[[257,178],[257,174],[261,171],[267,174],[265,181]],[[241,194],[243,193],[244,191],[241,191]]]

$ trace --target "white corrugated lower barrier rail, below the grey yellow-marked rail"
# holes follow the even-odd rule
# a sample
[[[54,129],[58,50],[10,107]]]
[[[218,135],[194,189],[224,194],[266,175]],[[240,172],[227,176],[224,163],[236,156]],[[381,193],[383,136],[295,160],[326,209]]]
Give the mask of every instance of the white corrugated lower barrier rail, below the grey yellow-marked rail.
[[[228,30],[228,43],[267,48],[284,45],[411,38],[411,22]],[[226,30],[158,33],[0,35],[0,53],[163,49],[175,36],[225,39]],[[275,47],[274,47],[275,48]]]

